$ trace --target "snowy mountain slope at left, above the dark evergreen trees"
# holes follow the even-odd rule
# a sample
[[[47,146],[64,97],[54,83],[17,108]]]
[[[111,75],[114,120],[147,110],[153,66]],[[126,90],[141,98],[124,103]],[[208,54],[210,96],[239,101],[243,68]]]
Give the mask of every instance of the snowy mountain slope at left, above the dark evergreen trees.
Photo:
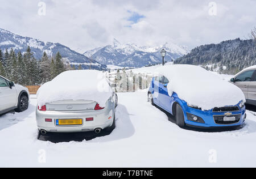
[[[28,46],[30,46],[36,59],[42,58],[44,52],[46,52],[49,57],[60,52],[63,57],[63,61],[71,63],[72,65],[78,66],[81,64],[83,69],[89,69],[89,67],[97,70],[106,69],[106,65],[101,65],[97,61],[83,56],[82,54],[71,50],[67,46],[59,43],[43,42],[30,37],[22,37],[0,28],[0,49],[2,51],[13,48],[15,52],[20,51],[24,53]]]

